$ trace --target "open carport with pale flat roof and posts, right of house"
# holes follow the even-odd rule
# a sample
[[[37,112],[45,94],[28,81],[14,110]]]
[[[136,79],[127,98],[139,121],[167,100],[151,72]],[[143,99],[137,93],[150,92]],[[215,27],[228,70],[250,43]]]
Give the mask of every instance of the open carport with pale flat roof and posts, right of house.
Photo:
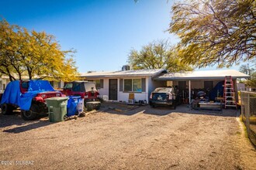
[[[178,93],[182,96],[182,102],[190,104],[192,98],[195,97],[199,90],[204,90],[214,97],[223,97],[223,93],[213,89],[216,86],[222,86],[226,76],[231,76],[234,82],[234,89],[237,98],[237,79],[239,78],[249,78],[247,74],[240,73],[237,70],[200,70],[191,71],[184,73],[164,73],[160,76],[154,77],[156,81],[165,81],[167,86],[173,86],[178,88]]]

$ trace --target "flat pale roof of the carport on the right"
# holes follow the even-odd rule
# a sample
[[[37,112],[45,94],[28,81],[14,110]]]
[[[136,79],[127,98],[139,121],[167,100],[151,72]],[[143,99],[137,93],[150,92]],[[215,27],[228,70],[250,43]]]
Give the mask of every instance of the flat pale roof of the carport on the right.
[[[245,73],[240,73],[237,70],[203,70],[189,71],[185,73],[164,73],[155,76],[154,80],[213,80],[224,79],[225,76],[232,78],[249,78]]]

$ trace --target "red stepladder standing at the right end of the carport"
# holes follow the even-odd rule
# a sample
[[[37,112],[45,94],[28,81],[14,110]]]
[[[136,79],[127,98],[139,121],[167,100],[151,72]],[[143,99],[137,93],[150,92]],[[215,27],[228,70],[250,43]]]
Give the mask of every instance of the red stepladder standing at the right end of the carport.
[[[231,76],[225,76],[225,83],[224,83],[224,102],[225,102],[225,109],[227,107],[236,107],[237,108],[237,101],[236,101],[236,93],[234,91],[234,84]]]

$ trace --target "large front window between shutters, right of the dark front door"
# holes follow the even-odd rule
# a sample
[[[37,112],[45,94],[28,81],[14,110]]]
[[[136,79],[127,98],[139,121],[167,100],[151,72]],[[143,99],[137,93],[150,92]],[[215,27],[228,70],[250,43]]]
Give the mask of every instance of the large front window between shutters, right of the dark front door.
[[[142,92],[141,79],[123,80],[123,91]]]

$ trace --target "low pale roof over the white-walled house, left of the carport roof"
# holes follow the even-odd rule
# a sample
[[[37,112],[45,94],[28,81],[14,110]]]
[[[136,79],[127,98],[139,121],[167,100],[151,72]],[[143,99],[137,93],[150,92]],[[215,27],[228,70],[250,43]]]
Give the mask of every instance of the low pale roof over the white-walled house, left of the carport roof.
[[[150,70],[126,70],[126,71],[112,71],[112,72],[92,72],[80,73],[80,76],[85,78],[104,78],[104,77],[123,77],[123,76],[158,76],[161,73],[167,73],[164,69],[150,69]]]

